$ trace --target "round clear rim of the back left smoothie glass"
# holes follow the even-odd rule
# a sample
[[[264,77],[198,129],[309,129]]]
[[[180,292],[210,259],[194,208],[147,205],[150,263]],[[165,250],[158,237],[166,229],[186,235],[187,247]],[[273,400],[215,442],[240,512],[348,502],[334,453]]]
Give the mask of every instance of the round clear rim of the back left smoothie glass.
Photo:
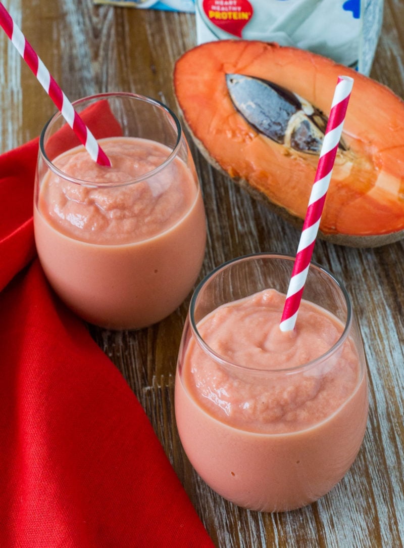
[[[178,117],[176,114],[163,102],[153,99],[151,97],[148,97],[147,95],[140,95],[137,93],[130,93],[130,92],[107,92],[107,93],[97,93],[94,95],[87,95],[81,99],[77,99],[76,101],[72,102],[73,107],[79,104],[82,104],[83,102],[96,102],[96,100],[99,99],[109,99],[109,98],[115,98],[115,97],[122,97],[126,99],[135,99],[137,101],[143,101],[147,102],[148,104],[154,105],[158,107],[159,109],[163,110],[166,114],[169,115],[169,117],[172,119],[172,121],[175,124],[175,128],[177,130],[177,139],[175,142],[175,146],[172,148],[170,154],[166,157],[163,163],[158,165],[156,168],[152,169],[151,171],[147,173],[143,173],[142,175],[139,175],[138,177],[135,177],[133,179],[122,181],[122,182],[92,182],[84,179],[78,179],[71,175],[68,175],[61,169],[57,168],[56,165],[51,161],[51,159],[48,158],[47,153],[45,152],[45,140],[47,138],[47,133],[51,125],[56,122],[58,119],[63,118],[60,111],[56,111],[48,120],[47,123],[45,123],[41,135],[39,136],[39,154],[42,156],[43,161],[47,164],[48,168],[61,177],[62,179],[65,179],[67,181],[70,181],[76,185],[80,186],[86,186],[91,188],[118,188],[122,186],[129,186],[136,184],[138,182],[144,181],[145,179],[149,179],[159,173],[161,170],[163,170],[167,165],[169,165],[177,156],[178,150],[180,149],[181,142],[182,142],[182,127],[180,124],[180,121],[178,120]],[[67,124],[67,122],[65,122]],[[83,146],[83,145],[78,145]]]

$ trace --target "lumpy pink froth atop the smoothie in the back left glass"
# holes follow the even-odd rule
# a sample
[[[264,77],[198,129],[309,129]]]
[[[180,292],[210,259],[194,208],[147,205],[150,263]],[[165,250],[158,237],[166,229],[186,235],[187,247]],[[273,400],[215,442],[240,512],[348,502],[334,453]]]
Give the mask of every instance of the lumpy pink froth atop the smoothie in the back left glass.
[[[101,139],[100,145],[111,168],[91,161],[83,147],[53,161],[65,175],[94,184],[78,185],[49,173],[39,210],[56,230],[91,243],[138,242],[169,229],[191,208],[197,189],[178,159],[130,184],[163,164],[171,152],[167,147],[133,138]]]

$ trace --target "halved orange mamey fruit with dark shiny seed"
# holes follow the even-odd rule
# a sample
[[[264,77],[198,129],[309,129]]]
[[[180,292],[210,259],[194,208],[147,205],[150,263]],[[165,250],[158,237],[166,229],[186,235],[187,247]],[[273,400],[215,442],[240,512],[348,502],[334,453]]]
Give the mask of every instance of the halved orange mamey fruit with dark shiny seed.
[[[404,237],[404,101],[390,89],[320,55],[243,40],[186,52],[174,89],[206,159],[299,226],[340,75],[354,86],[319,237],[381,246]],[[303,145],[293,146],[295,134]]]

